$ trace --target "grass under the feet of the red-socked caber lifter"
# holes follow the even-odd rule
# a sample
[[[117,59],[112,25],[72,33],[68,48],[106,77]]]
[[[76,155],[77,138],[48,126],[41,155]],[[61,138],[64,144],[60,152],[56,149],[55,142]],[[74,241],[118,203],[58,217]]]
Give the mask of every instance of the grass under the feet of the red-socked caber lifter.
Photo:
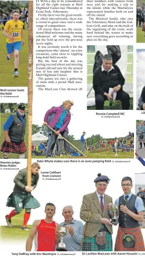
[[[9,213],[8,208],[7,210]],[[12,228],[9,228],[8,226],[1,226],[1,240],[27,240],[29,231],[22,230],[24,213],[25,210],[12,218]],[[32,225],[27,225],[27,228],[30,229],[31,226]]]

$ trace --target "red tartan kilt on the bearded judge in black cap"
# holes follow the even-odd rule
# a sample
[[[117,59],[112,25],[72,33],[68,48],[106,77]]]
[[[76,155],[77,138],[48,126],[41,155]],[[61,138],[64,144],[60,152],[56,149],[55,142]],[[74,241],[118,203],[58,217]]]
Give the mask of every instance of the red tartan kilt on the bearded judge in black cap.
[[[2,146],[1,146],[1,151],[4,153],[17,153],[17,154],[23,154],[26,151],[26,146],[25,146],[25,142],[24,141],[13,141],[11,140],[11,142],[7,142],[6,140],[4,140]]]

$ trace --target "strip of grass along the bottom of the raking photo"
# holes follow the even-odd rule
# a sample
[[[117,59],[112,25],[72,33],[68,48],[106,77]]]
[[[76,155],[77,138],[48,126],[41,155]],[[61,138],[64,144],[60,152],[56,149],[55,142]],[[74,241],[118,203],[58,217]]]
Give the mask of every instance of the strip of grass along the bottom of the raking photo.
[[[104,152],[90,152],[85,151],[84,154],[88,158],[134,158],[134,152],[124,152],[124,153],[118,153],[118,157],[115,157],[115,153],[112,153],[110,151],[104,151]],[[32,156],[32,158],[46,158],[45,156]],[[85,158],[82,157],[69,157],[69,156],[60,156],[60,157],[53,157],[53,159],[56,158]],[[46,158],[47,159],[47,158]]]

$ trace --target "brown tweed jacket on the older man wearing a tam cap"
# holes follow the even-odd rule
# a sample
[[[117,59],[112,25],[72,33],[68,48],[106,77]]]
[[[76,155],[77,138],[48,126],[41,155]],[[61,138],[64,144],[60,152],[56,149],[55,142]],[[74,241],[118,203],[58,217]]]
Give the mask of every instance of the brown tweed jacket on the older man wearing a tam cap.
[[[112,198],[104,194],[103,214],[100,207],[100,202],[96,191],[94,193],[86,194],[83,197],[82,206],[80,209],[80,219],[87,223],[85,235],[87,237],[94,237],[101,227],[101,217],[110,220],[109,209],[107,204],[112,203]],[[90,214],[89,214],[90,212]],[[112,226],[105,225],[108,231],[112,234]]]

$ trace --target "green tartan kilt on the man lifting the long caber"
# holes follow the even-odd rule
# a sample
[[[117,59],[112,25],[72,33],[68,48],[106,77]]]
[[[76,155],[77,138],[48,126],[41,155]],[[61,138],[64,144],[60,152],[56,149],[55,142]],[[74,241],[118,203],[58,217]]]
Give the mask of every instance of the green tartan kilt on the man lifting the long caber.
[[[13,207],[16,211],[28,208],[35,209],[40,207],[40,203],[32,196],[31,193],[23,194],[13,192]]]

